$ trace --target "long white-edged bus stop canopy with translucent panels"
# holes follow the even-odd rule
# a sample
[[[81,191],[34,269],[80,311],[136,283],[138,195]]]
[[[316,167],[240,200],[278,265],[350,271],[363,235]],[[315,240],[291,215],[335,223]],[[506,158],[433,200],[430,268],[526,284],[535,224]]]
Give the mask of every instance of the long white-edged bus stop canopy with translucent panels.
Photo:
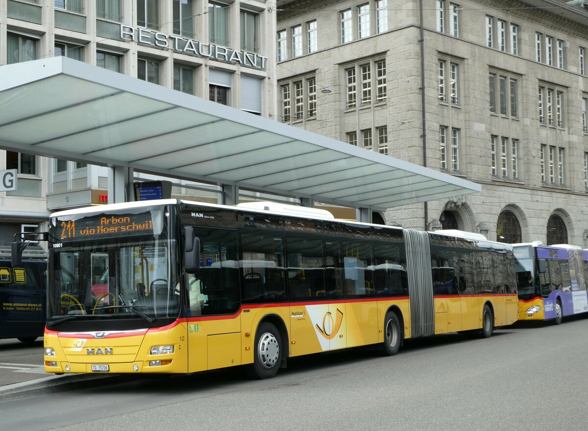
[[[0,148],[382,210],[480,185],[65,57],[0,67]]]

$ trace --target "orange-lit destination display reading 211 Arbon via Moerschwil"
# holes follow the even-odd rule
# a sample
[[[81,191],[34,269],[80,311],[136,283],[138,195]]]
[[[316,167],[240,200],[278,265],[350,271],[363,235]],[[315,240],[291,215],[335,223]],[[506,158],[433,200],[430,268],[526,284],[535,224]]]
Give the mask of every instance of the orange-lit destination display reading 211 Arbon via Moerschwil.
[[[77,220],[59,220],[55,235],[62,241],[106,239],[153,233],[151,213],[98,215]]]

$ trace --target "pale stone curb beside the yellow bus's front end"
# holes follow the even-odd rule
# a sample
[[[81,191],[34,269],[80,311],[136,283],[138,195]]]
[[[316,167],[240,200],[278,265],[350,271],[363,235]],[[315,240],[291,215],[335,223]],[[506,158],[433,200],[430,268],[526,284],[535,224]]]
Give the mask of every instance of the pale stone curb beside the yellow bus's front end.
[[[94,374],[67,374],[67,375],[48,375],[40,379],[27,380],[26,382],[12,383],[12,385],[0,386],[0,402],[11,399],[26,398],[32,395],[43,395],[58,392],[72,386],[84,387],[83,383],[92,380],[109,380],[107,377],[118,377],[118,374],[94,375]],[[105,384],[97,383],[95,386]]]

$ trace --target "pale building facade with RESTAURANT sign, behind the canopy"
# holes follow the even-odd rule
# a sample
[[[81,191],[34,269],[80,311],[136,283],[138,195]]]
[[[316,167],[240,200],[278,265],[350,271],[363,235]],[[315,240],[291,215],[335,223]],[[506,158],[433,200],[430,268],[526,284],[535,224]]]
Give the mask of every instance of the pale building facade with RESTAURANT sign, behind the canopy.
[[[275,14],[258,0],[0,0],[0,68],[63,55],[269,117]],[[18,169],[18,189],[0,192],[0,243],[46,230],[53,211],[108,202],[109,168],[0,150],[3,169]],[[218,202],[223,193],[171,180],[176,197]]]

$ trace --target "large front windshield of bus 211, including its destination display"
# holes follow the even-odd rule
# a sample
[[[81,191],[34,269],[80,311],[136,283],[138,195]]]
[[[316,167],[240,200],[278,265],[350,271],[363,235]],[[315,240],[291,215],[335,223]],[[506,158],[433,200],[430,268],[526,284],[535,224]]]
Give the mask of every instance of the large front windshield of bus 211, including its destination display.
[[[68,320],[153,323],[178,317],[173,223],[162,208],[142,211],[52,219],[49,326]]]

